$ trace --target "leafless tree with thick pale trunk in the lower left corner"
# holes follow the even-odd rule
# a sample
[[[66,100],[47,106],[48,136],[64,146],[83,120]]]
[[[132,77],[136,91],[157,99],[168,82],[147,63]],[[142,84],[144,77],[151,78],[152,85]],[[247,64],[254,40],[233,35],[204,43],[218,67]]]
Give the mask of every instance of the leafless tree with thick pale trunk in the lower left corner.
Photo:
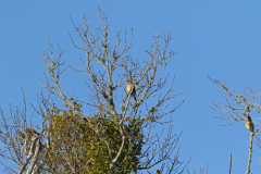
[[[0,140],[2,148],[0,149],[0,157],[13,162],[11,165],[7,165],[3,162],[1,164],[7,173],[34,174],[38,173],[37,170],[42,164],[42,158],[40,158],[42,152],[41,141],[47,135],[44,133],[45,122],[42,122],[40,133],[36,132],[32,120],[28,120],[26,113],[25,97],[23,101],[24,110],[14,109],[10,104],[11,114],[8,117],[4,116],[1,110]],[[42,116],[46,117],[46,114],[42,113]]]

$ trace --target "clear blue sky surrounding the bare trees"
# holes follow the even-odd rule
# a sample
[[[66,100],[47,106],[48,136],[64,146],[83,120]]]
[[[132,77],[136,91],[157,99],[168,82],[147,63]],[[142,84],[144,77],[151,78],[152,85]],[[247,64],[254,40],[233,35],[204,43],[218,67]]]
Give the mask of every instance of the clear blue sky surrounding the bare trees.
[[[22,107],[21,88],[28,107],[37,104],[37,94],[45,89],[36,76],[44,77],[46,71],[37,58],[41,57],[42,48],[47,50],[48,38],[54,47],[60,44],[70,61],[83,55],[70,47],[69,33],[74,34],[70,15],[75,24],[80,24],[86,14],[90,16],[88,22],[97,26],[100,25],[98,7],[109,14],[112,36],[116,30],[130,34],[134,29],[133,58],[146,58],[145,50],[150,49],[153,30],[159,26],[171,32],[174,39],[170,49],[177,54],[167,73],[176,77],[176,92],[184,90],[174,104],[185,100],[171,116],[175,120],[174,132],[184,130],[179,158],[186,162],[192,157],[187,169],[199,173],[209,163],[209,173],[228,173],[232,153],[233,173],[245,173],[249,132],[243,122],[221,126],[232,122],[213,117],[219,113],[210,108],[212,101],[223,102],[223,99],[208,75],[239,92],[243,91],[239,79],[246,86],[261,88],[261,1],[258,0],[1,1],[0,105],[5,115],[9,115],[9,103]],[[84,89],[73,79],[66,80],[70,89]],[[260,150],[253,145],[251,172],[254,174],[260,173]]]

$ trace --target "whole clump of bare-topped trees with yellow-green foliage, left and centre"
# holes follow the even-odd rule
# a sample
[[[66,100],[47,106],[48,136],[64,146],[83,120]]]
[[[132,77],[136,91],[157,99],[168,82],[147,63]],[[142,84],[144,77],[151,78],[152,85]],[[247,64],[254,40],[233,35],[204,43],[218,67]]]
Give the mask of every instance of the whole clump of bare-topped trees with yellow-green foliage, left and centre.
[[[108,15],[98,12],[101,27],[88,25],[86,16],[80,25],[72,20],[82,41],[78,46],[71,36],[73,46],[85,58],[66,65],[60,47],[58,54],[51,44],[42,51],[39,60],[48,74],[39,80],[50,95],[41,95],[39,105],[34,105],[42,125],[28,125],[25,99],[23,111],[11,107],[11,121],[1,111],[5,150],[0,156],[15,163],[15,167],[2,163],[7,173],[145,173],[156,165],[161,166],[157,173],[183,173],[187,166],[189,161],[184,164],[178,158],[182,133],[174,134],[173,120],[165,117],[183,103],[170,104],[182,94],[174,92],[174,77],[165,73],[175,55],[169,50],[171,35],[154,33],[148,58],[134,59],[133,33],[117,32],[115,40],[109,40]],[[87,77],[88,97],[63,90],[66,67]],[[62,104],[53,103],[52,97]],[[165,137],[157,129],[163,124],[169,126]]]

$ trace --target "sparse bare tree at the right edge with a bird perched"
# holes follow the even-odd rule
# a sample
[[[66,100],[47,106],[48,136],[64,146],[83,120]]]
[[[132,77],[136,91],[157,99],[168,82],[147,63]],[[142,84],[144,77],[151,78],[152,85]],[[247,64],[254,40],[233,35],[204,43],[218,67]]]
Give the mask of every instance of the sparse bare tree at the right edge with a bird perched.
[[[211,79],[211,78],[210,78]],[[221,92],[219,89],[216,89],[223,99],[225,100],[225,103],[217,102],[213,103],[215,108],[213,108],[216,112],[221,114],[221,116],[216,119],[222,120],[229,120],[232,121],[231,124],[233,125],[235,123],[245,122],[245,127],[249,129],[250,132],[250,146],[249,146],[249,159],[248,159],[248,165],[247,165],[247,172],[246,174],[250,173],[250,164],[252,160],[252,142],[253,137],[258,139],[258,145],[260,147],[260,130],[254,129],[254,126],[260,126],[260,119],[251,119],[250,112],[252,113],[260,113],[260,103],[258,102],[259,97],[261,97],[260,89],[257,87],[244,87],[245,94],[239,92],[233,92],[229,90],[225,84],[221,84],[217,79],[211,79],[213,83],[215,83],[219,87],[224,89],[224,92]],[[254,122],[252,122],[252,120]]]

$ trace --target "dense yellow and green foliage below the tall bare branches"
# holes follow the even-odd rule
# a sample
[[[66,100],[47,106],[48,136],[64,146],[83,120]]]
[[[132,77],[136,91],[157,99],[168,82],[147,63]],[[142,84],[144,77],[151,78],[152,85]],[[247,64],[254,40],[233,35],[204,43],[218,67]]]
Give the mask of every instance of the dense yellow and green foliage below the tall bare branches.
[[[80,103],[74,103],[80,109]],[[44,145],[44,151],[48,153],[45,169],[47,172],[69,173],[136,173],[141,153],[142,138],[140,117],[130,120],[123,125],[126,136],[123,151],[113,166],[110,169],[112,158],[116,156],[122,145],[119,125],[111,116],[103,119],[105,127],[99,126],[97,117],[92,115],[83,119],[83,115],[73,111],[59,110],[55,105],[51,110],[51,135],[50,147]],[[113,157],[109,156],[108,146],[100,136],[91,128],[96,126],[110,141]],[[42,156],[42,154],[41,154]],[[70,165],[67,165],[70,163]],[[52,170],[51,170],[52,169]],[[42,171],[42,173],[45,173]]]

